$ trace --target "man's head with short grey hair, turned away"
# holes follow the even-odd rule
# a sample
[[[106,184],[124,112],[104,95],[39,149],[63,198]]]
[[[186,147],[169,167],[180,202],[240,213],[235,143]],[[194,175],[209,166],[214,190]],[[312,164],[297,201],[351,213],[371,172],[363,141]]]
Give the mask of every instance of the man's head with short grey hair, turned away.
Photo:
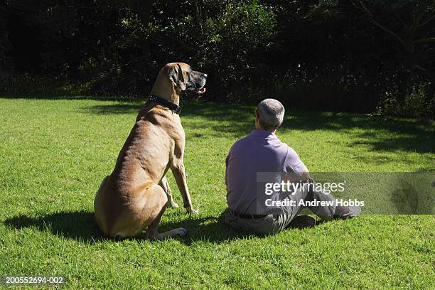
[[[276,129],[284,119],[284,106],[275,99],[265,99],[258,104],[259,124],[264,129]]]

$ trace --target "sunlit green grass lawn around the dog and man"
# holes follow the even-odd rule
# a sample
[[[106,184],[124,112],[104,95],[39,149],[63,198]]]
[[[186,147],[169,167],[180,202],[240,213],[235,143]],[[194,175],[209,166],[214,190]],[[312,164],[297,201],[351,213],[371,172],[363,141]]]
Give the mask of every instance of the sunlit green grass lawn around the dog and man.
[[[434,289],[434,215],[362,215],[267,237],[222,225],[225,157],[254,107],[182,103],[200,214],[168,208],[160,230],[187,237],[101,237],[95,192],[141,104],[0,99],[0,276],[65,276],[68,289]],[[277,136],[310,171],[416,172],[435,170],[434,133],[425,122],[288,109]]]

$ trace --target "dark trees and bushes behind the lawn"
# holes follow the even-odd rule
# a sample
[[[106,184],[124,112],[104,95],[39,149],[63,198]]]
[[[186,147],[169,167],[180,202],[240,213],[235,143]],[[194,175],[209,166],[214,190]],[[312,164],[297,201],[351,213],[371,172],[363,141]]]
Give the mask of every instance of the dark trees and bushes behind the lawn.
[[[204,97],[433,118],[433,0],[6,0],[0,90],[145,97],[159,68]]]

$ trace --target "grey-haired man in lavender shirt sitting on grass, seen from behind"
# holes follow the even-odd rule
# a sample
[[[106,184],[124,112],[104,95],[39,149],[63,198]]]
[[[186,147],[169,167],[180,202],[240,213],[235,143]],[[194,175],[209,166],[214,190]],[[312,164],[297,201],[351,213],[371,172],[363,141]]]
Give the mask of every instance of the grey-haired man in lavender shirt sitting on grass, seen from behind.
[[[314,218],[298,216],[304,208],[301,200],[314,202],[309,203],[307,208],[323,220],[360,215],[359,207],[338,205],[331,194],[318,190],[298,154],[275,135],[283,119],[284,107],[281,102],[263,100],[255,110],[255,129],[231,147],[225,171],[227,225],[254,234],[276,233],[289,225],[315,225]],[[295,190],[292,192],[276,188],[267,192],[264,187],[263,191],[261,188],[259,190],[264,182],[283,183],[283,176],[285,181],[299,183],[299,186],[293,187]],[[273,205],[272,201],[275,202]],[[279,205],[276,201],[285,202]]]

